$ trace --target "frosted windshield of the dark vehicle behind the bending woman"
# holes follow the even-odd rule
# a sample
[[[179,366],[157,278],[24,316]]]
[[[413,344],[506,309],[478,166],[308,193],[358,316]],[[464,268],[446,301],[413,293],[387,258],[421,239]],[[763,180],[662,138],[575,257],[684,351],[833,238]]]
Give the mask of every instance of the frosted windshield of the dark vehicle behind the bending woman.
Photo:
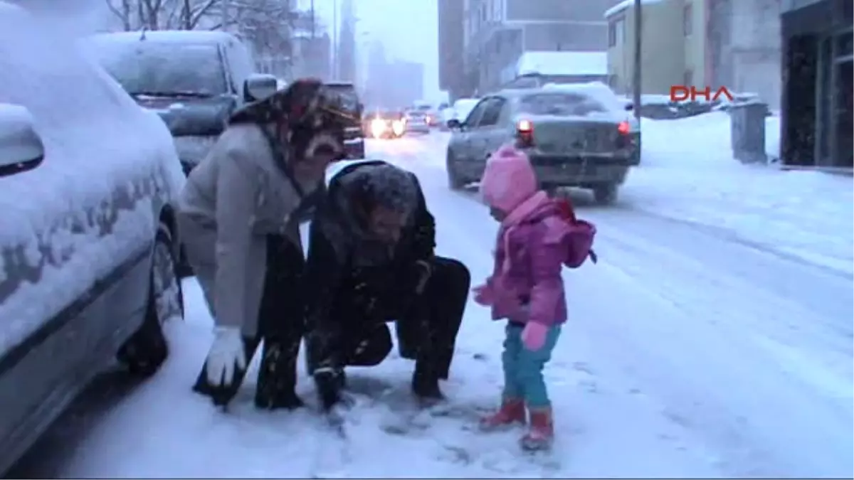
[[[213,97],[229,91],[215,44],[104,42],[95,51],[102,67],[134,96]]]

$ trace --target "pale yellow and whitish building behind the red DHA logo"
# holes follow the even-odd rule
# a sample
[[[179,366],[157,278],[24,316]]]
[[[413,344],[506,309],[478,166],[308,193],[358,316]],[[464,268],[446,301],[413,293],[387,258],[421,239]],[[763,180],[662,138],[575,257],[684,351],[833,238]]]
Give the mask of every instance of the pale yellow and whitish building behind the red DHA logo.
[[[780,103],[780,0],[644,0],[641,85],[669,94],[670,85],[756,93]],[[608,69],[617,91],[633,90],[635,3],[605,14]]]

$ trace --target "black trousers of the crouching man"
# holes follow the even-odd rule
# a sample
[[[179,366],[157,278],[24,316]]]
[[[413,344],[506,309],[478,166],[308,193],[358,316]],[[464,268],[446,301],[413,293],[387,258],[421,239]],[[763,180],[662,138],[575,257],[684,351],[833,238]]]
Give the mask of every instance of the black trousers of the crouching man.
[[[396,321],[398,348],[402,357],[416,360],[416,378],[429,382],[448,377],[470,286],[471,273],[465,265],[458,260],[435,257],[432,275],[420,296],[412,292],[409,298],[381,300],[388,305],[377,308],[386,317],[379,320]],[[339,308],[335,310],[342,312]],[[375,366],[389,355],[392,348],[389,327],[370,321],[366,325],[373,326],[343,340],[343,365]]]

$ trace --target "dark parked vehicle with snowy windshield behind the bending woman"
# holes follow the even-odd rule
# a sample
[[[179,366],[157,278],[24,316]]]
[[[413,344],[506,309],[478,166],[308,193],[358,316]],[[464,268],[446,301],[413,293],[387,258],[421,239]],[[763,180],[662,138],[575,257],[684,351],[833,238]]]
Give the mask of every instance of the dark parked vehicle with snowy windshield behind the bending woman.
[[[97,61],[172,132],[184,173],[208,155],[236,108],[271,95],[249,50],[227,32],[116,32],[87,42]]]

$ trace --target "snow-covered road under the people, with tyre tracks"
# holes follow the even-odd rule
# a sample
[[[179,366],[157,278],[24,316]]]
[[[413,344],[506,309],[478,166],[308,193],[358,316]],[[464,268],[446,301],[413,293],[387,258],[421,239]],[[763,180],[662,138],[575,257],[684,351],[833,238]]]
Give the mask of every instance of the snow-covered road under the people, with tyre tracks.
[[[442,136],[371,143],[418,173],[439,253],[476,281],[496,226],[447,189]],[[629,179],[631,182],[631,179]],[[636,189],[635,189],[636,190]],[[633,193],[636,195],[636,193]],[[500,391],[502,325],[470,303],[447,384],[453,412],[407,418],[412,365],[353,372],[348,441],[310,411],[259,413],[253,385],[230,415],[190,393],[211,339],[192,280],[173,356],[135,389],[99,382],[17,476],[846,477],[854,474],[851,279],[712,226],[586,205],[600,263],[566,272],[570,322],[547,367],[558,442],[518,453],[517,432],[471,430]],[[109,385],[106,387],[105,385]],[[301,377],[300,391],[313,401]],[[401,413],[404,411],[404,413]],[[411,417],[411,416],[410,416]],[[403,421],[403,420],[406,421]],[[392,433],[400,431],[402,433]]]

